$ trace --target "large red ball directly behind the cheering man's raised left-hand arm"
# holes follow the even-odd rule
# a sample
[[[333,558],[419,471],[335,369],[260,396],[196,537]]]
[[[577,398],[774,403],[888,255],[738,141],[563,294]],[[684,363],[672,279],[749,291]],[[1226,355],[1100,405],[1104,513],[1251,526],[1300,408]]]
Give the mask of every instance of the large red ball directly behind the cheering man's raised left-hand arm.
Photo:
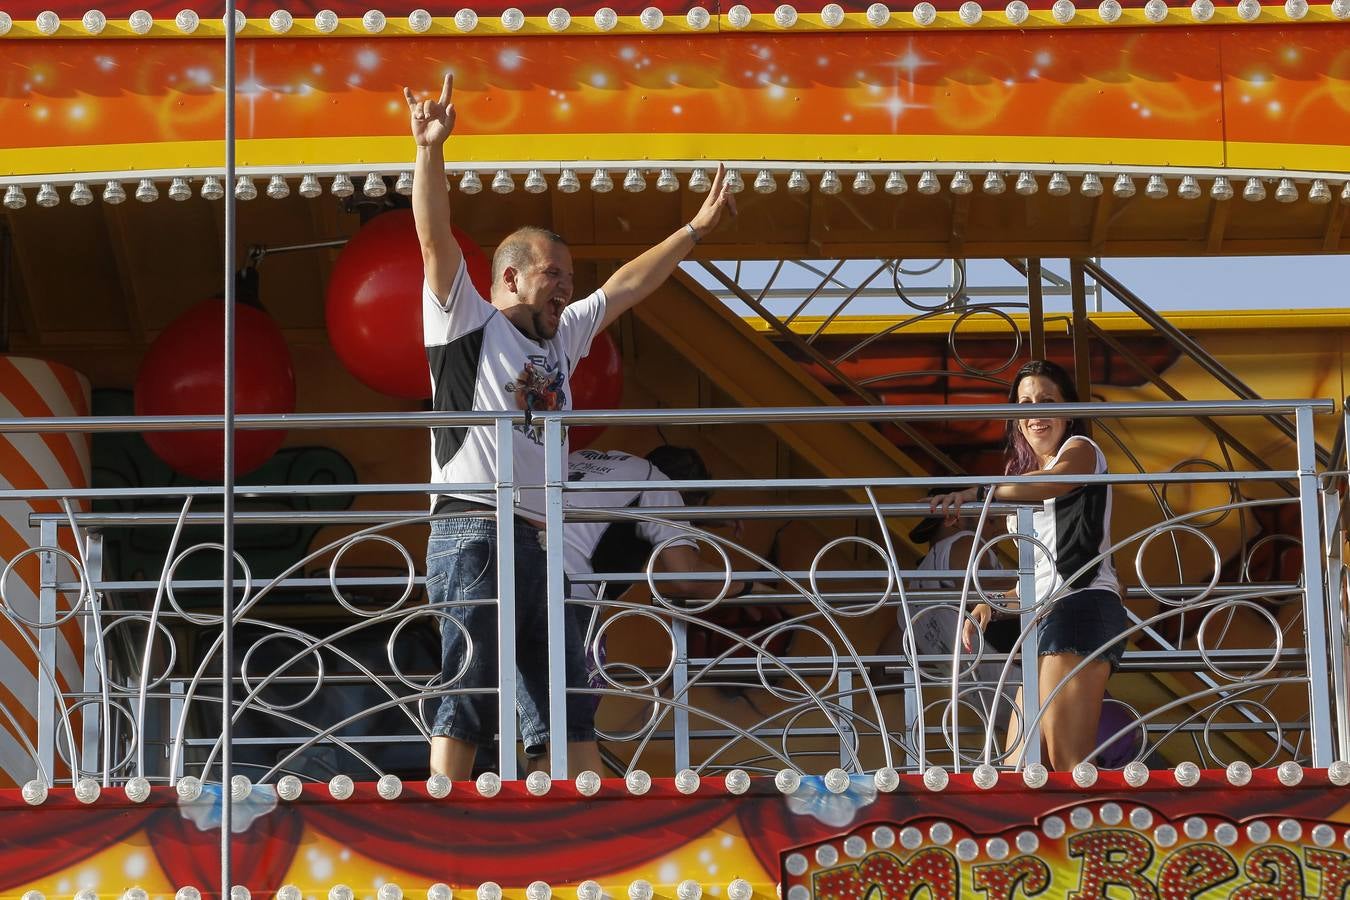
[[[486,300],[491,263],[458,228],[468,278]],[[423,260],[413,215],[375,216],[347,242],[328,281],[328,340],[356,379],[381,394],[425,399],[431,375],[423,344]]]

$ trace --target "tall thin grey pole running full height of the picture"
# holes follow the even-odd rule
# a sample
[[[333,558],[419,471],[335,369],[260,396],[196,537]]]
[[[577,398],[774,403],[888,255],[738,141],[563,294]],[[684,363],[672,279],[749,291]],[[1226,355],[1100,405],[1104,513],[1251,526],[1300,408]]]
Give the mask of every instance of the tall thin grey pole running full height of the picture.
[[[235,672],[235,0],[225,0],[225,371],[224,371],[224,471],[221,491],[221,587],[220,587],[220,897],[230,897],[230,839],[234,834],[234,702]]]

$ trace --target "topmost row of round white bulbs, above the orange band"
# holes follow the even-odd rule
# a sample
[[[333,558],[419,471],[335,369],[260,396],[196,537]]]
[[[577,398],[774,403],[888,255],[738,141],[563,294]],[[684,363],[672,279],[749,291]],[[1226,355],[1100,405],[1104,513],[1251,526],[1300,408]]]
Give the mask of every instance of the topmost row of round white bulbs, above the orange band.
[[[1308,0],[1284,0],[1284,15],[1288,19],[1304,19],[1308,15]],[[1119,22],[1125,12],[1119,0],[1102,0],[1096,11],[1098,18],[1107,24]],[[1251,22],[1261,16],[1261,1],[1239,0],[1237,12],[1238,18]],[[1008,23],[1014,26],[1025,24],[1030,13],[1031,11],[1023,0],[1011,0],[1003,9],[1003,15]],[[1195,22],[1210,22],[1214,13],[1214,0],[1193,0],[1191,4],[1191,19]],[[1350,19],[1350,0],[1332,0],[1331,13],[1336,19]],[[865,13],[867,22],[878,28],[891,24],[895,15],[898,13],[894,13],[884,3],[873,3],[867,8]],[[927,0],[915,4],[910,15],[914,19],[914,24],[922,27],[932,26],[938,20],[937,7]],[[1073,0],[1056,0],[1050,8],[1050,16],[1060,24],[1069,24],[1077,15],[1079,9],[1073,4]],[[1170,15],[1172,7],[1166,4],[1166,0],[1148,0],[1143,7],[1143,18],[1156,24],[1165,22]],[[837,3],[829,3],[822,7],[819,16],[821,23],[829,28],[838,28],[845,20],[844,8]],[[957,18],[967,26],[979,24],[984,18],[984,8],[976,0],[965,0],[957,9]],[[703,7],[694,7],[684,15],[688,27],[695,31],[707,28],[711,19],[711,13]],[[798,19],[798,9],[792,4],[784,3],[774,9],[774,23],[780,28],[792,28],[796,26]],[[247,18],[242,12],[236,12],[235,31],[242,31],[247,22]],[[501,13],[501,24],[506,31],[520,31],[525,27],[525,13],[516,7],[510,7]],[[572,16],[567,9],[556,7],[548,12],[545,22],[549,30],[562,32],[571,27]],[[595,11],[594,22],[598,30],[612,31],[618,24],[618,13],[610,7],[602,7]],[[666,15],[656,7],[647,7],[639,15],[639,22],[648,31],[659,31],[666,23]],[[744,4],[736,4],[726,11],[726,23],[732,28],[745,28],[752,22],[753,15],[749,7]],[[108,16],[99,9],[90,9],[81,18],[80,23],[86,34],[100,35],[108,27]],[[154,16],[146,9],[136,9],[127,18],[127,27],[138,35],[148,34],[154,28]],[[267,18],[267,27],[273,34],[288,34],[294,24],[294,16],[286,9],[277,9]],[[340,24],[340,16],[332,9],[320,9],[315,13],[315,28],[320,34],[332,34]],[[367,34],[381,34],[387,27],[389,18],[379,9],[370,9],[360,18],[360,24]],[[425,34],[431,30],[432,24],[432,15],[427,9],[413,9],[408,15],[408,28],[414,34]],[[464,8],[455,13],[455,28],[463,34],[474,31],[478,28],[478,13],[473,9]],[[9,15],[0,12],[0,36],[8,34],[12,26],[14,20]],[[38,13],[35,26],[39,34],[54,35],[61,28],[61,16],[51,9],[46,9]],[[181,34],[193,34],[201,26],[201,16],[192,9],[184,9],[174,18],[174,26]]]

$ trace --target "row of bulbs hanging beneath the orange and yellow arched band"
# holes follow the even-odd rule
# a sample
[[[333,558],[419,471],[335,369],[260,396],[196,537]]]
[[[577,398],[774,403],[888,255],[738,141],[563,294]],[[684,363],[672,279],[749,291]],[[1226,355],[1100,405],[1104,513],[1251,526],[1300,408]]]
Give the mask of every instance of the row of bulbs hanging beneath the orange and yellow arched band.
[[[976,173],[979,174],[979,173]],[[980,190],[986,194],[1002,194],[1008,190],[1008,179],[1013,181],[1013,192],[1023,197],[1030,197],[1041,190],[1041,181],[1034,173],[1019,171],[1015,177],[1008,173],[1004,175],[1002,171],[988,171],[980,178]],[[1107,175],[1110,181],[1110,192],[1114,197],[1122,200],[1134,197],[1139,193],[1135,178],[1129,174],[1115,175],[1114,179]],[[1268,196],[1265,178],[1250,177],[1245,182],[1238,179],[1241,184],[1241,194],[1243,200],[1253,202],[1265,200]],[[1272,179],[1273,181],[1273,179]],[[447,179],[447,189],[451,181]],[[466,171],[459,178],[459,190],[466,194],[477,194],[483,190],[483,179],[477,171]],[[624,175],[621,182],[622,189],[629,193],[641,193],[647,190],[647,175],[641,169],[629,169]],[[733,193],[740,193],[745,190],[747,182],[741,173],[736,169],[730,169],[726,173],[728,189]],[[505,169],[498,169],[487,186],[498,194],[509,194],[516,190],[516,177],[506,171]],[[548,179],[544,177],[543,171],[539,169],[532,169],[525,175],[524,189],[526,193],[539,194],[548,190]],[[576,193],[582,188],[580,177],[572,169],[563,169],[558,175],[556,185],[558,190],[564,194]],[[610,177],[609,171],[605,169],[597,169],[589,179],[589,186],[595,193],[609,193],[614,190],[614,179]],[[674,193],[679,190],[680,182],[679,177],[671,169],[662,169],[656,175],[655,182],[656,190],[663,193]],[[694,193],[706,193],[711,186],[711,178],[707,170],[694,169],[687,179],[687,186]],[[771,194],[778,190],[778,178],[768,169],[760,169],[755,175],[749,188],[759,194]],[[969,171],[959,170],[952,173],[948,179],[948,190],[953,194],[969,194],[976,189],[976,177]],[[805,194],[810,192],[811,184],[806,177],[806,173],[801,170],[792,170],[787,175],[787,192],[792,194]],[[871,171],[860,170],[853,175],[852,190],[855,194],[871,194],[875,193],[878,188],[876,179]],[[936,171],[927,170],[918,175],[918,181],[914,189],[921,194],[936,194],[942,190],[942,181]],[[822,194],[838,194],[844,190],[844,178],[833,169],[826,169],[821,173],[817,181],[817,190]],[[890,171],[882,182],[882,190],[888,194],[899,196],[910,190],[910,182],[905,173]],[[248,175],[239,175],[235,181],[235,198],[236,200],[255,200],[259,194],[258,184]],[[383,175],[379,173],[370,173],[362,182],[360,193],[366,197],[378,198],[383,197],[389,192],[389,186],[385,182]],[[413,192],[413,177],[412,173],[400,173],[394,181],[394,192],[410,196]],[[1069,177],[1062,171],[1052,173],[1049,179],[1045,182],[1045,193],[1052,197],[1064,197],[1073,192],[1073,185]],[[1079,182],[1079,193],[1084,197],[1100,197],[1107,192],[1107,184],[1096,173],[1087,173]],[[192,179],[186,177],[176,177],[169,184],[166,190],[170,200],[189,200],[193,196]],[[273,200],[282,200],[290,196],[290,182],[285,175],[273,175],[266,188],[263,189]],[[319,181],[317,175],[304,175],[300,179],[300,186],[297,193],[301,197],[319,197],[324,193],[324,188]],[[332,177],[328,186],[328,193],[333,197],[351,197],[356,193],[356,184],[350,175],[338,174]],[[1161,200],[1172,193],[1172,186],[1164,175],[1149,175],[1143,184],[1142,193],[1145,197],[1152,200]],[[1238,184],[1234,184],[1227,175],[1215,175],[1210,181],[1208,196],[1212,200],[1233,200],[1238,196]],[[1293,178],[1280,178],[1274,188],[1274,198],[1280,202],[1295,202],[1299,200],[1300,190],[1299,184]],[[120,204],[128,197],[127,189],[120,181],[108,181],[101,188],[103,201],[105,204]],[[204,200],[220,200],[225,196],[225,186],[221,184],[220,178],[216,175],[207,175],[201,181],[200,194]],[[1176,194],[1183,200],[1199,200],[1206,194],[1204,188],[1200,185],[1200,179],[1196,175],[1183,175],[1176,186]],[[154,202],[159,200],[159,185],[154,178],[142,178],[136,184],[134,192],[130,194],[139,200],[140,202]],[[1307,200],[1312,204],[1328,204],[1332,198],[1332,188],[1327,184],[1324,178],[1315,178],[1308,185]],[[1339,190],[1339,197],[1342,202],[1350,202],[1350,181],[1343,184]],[[88,182],[77,181],[70,185],[69,190],[70,202],[76,206],[86,206],[93,202],[93,188]],[[55,206],[61,202],[61,194],[57,190],[57,185],[53,182],[46,182],[38,188],[34,201],[43,208]],[[9,185],[4,192],[4,206],[7,209],[23,209],[28,205],[28,196],[23,188],[19,185]]]

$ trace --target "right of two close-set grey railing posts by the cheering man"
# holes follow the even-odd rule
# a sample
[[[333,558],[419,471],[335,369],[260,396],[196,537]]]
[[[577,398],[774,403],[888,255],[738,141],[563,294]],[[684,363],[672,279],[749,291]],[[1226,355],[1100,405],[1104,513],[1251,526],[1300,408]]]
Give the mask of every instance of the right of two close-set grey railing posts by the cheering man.
[[[548,536],[548,773],[567,777],[567,594],[563,579],[563,422],[544,420],[544,522]]]

